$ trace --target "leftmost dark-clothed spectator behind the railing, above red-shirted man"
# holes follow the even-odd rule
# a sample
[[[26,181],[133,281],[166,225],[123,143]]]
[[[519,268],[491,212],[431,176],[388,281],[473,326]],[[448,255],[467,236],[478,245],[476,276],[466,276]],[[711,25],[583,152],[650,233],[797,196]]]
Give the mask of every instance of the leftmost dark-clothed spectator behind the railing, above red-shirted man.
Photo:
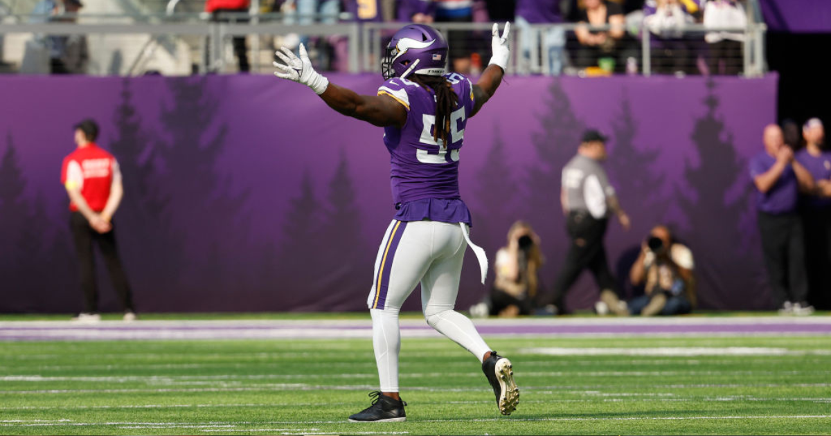
[[[80,0],[41,0],[32,10],[30,22],[76,22],[84,7]],[[84,74],[89,50],[84,35],[48,35],[36,37],[36,43],[49,54],[52,74]]]

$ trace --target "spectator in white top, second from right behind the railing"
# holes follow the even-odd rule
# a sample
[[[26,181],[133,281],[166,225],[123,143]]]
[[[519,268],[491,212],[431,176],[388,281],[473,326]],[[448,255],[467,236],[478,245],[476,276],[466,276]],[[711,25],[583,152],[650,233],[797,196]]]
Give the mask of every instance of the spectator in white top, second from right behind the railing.
[[[652,70],[657,73],[688,73],[696,71],[691,60],[690,43],[683,33],[699,12],[690,0],[647,0],[643,24],[652,33]]]

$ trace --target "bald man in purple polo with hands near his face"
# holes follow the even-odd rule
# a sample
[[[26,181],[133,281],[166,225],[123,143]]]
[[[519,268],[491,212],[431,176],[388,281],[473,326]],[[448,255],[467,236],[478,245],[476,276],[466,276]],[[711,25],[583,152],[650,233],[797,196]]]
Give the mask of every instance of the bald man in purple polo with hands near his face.
[[[774,300],[783,315],[809,315],[799,191],[814,189],[814,178],[784,145],[779,125],[765,127],[765,151],[750,159],[762,252]]]

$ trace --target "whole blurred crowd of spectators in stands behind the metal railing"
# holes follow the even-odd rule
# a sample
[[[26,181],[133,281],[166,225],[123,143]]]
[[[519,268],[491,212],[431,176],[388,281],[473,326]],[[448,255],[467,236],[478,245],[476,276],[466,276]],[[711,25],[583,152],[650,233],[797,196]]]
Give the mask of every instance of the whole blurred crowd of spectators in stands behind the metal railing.
[[[642,32],[649,32],[652,72],[664,74],[727,74],[741,72],[742,32],[681,32],[687,24],[705,27],[745,27],[745,0],[262,0],[262,12],[280,12],[286,24],[355,22],[418,22],[425,24],[514,22],[523,71],[559,74],[637,73],[642,71]],[[32,22],[72,21],[80,0],[42,0]],[[221,12],[248,12],[250,0],[207,0],[204,11],[212,21]],[[344,13],[346,12],[346,13]],[[246,22],[235,17],[236,22]],[[545,24],[580,25],[539,27]],[[450,69],[476,74],[486,62],[487,38],[475,32],[451,30]],[[73,40],[80,40],[74,37]],[[303,42],[319,69],[347,70],[347,44],[340,37],[289,35],[279,45]],[[244,37],[233,38],[238,71],[250,68]],[[86,46],[68,37],[41,37],[33,44],[53,73],[83,73]],[[544,55],[540,49],[547,48]],[[79,52],[80,50],[80,52]],[[207,53],[206,53],[207,56]],[[534,61],[532,61],[534,59]],[[542,65],[539,59],[547,59]],[[209,70],[214,70],[211,61]],[[25,71],[24,71],[25,72]]]

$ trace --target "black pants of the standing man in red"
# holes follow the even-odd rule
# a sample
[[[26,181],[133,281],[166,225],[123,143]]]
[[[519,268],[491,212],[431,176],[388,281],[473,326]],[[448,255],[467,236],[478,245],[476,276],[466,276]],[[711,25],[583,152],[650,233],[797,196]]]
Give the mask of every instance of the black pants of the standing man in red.
[[[115,230],[107,233],[98,233],[90,227],[90,223],[80,212],[73,212],[70,219],[72,237],[75,239],[75,249],[81,267],[81,289],[84,291],[84,311],[96,313],[98,311],[98,286],[96,285],[96,264],[92,252],[92,244],[98,244],[101,255],[104,257],[106,268],[110,272],[112,285],[121,300],[125,311],[134,311],[133,298],[127,276],[121,267],[116,247]]]

